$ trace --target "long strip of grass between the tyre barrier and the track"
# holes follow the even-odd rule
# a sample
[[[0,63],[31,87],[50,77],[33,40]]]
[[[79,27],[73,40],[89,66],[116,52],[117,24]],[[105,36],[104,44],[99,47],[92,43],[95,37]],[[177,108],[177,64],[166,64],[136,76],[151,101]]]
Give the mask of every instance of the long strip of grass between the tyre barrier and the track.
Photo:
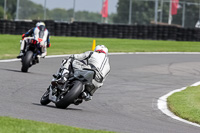
[[[20,39],[21,35],[0,34],[0,59],[15,58],[19,54]],[[52,47],[48,48],[48,55],[74,54],[91,50],[94,39],[97,45],[106,45],[109,52],[200,52],[199,42],[51,36]]]

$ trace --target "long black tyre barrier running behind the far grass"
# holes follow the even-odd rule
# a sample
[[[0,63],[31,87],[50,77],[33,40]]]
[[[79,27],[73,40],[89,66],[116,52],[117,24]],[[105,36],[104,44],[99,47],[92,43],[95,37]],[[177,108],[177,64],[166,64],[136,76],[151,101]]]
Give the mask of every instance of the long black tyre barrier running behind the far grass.
[[[0,34],[21,35],[35,26],[39,20],[10,21],[0,20]],[[50,35],[126,38],[150,40],[200,41],[200,29],[166,25],[122,25],[95,22],[56,22],[44,21]]]

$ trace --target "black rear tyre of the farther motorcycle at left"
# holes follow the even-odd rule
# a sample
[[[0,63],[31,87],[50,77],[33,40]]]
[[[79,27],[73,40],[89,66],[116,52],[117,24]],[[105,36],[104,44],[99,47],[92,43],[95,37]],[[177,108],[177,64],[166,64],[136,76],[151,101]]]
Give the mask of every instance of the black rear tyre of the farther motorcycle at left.
[[[28,51],[25,56],[22,58],[22,72],[28,72],[29,67],[31,67],[31,61],[33,57],[33,52]]]

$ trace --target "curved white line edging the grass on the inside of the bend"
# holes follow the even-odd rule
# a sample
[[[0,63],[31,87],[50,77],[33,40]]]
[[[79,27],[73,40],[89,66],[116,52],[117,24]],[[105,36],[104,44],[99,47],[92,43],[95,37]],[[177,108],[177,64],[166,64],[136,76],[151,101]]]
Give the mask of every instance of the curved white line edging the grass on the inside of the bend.
[[[192,84],[191,86],[198,86],[200,85],[200,82],[197,82],[197,83],[194,83]],[[176,119],[176,120],[179,120],[181,122],[184,122],[184,123],[187,123],[187,124],[190,124],[190,125],[193,125],[193,126],[197,126],[197,127],[200,127],[199,124],[197,123],[193,123],[193,122],[190,122],[190,121],[187,121],[185,119],[182,119],[176,115],[174,115],[169,109],[168,109],[168,106],[167,106],[167,98],[169,96],[171,96],[172,94],[176,93],[176,92],[180,92],[182,90],[185,90],[187,87],[183,87],[181,89],[177,89],[177,90],[174,90],[174,91],[171,91],[169,92],[168,94],[160,97],[157,101],[157,106],[158,106],[158,109],[160,109],[164,114],[166,114],[167,116],[173,118],[173,119]]]

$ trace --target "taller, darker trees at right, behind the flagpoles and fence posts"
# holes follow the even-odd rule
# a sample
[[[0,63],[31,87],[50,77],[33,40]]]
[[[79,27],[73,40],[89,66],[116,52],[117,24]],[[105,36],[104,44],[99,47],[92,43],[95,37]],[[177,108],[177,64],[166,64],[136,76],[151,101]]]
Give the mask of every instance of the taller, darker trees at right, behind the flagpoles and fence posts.
[[[185,8],[185,27],[194,27],[199,20],[199,0],[179,0],[180,8],[177,15],[173,15],[172,24],[182,25],[183,3],[187,2]],[[129,3],[130,0],[119,0],[117,6],[117,15],[113,18],[115,23],[128,24],[129,21]],[[158,9],[161,9],[161,0],[158,0]],[[162,22],[168,23],[169,1],[164,1],[162,10]],[[154,21],[155,1],[132,0],[132,24],[150,24]],[[158,12],[158,18],[160,13]],[[160,19],[160,18],[159,18]],[[158,21],[159,21],[158,19]]]

